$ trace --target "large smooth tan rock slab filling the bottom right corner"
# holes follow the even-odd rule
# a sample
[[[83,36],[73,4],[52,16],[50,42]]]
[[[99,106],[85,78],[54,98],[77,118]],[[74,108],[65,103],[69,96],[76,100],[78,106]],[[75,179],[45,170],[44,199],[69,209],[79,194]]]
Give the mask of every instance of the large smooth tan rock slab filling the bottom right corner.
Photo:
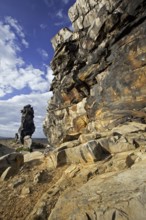
[[[145,220],[145,169],[142,161],[129,170],[101,174],[65,190],[48,219]]]

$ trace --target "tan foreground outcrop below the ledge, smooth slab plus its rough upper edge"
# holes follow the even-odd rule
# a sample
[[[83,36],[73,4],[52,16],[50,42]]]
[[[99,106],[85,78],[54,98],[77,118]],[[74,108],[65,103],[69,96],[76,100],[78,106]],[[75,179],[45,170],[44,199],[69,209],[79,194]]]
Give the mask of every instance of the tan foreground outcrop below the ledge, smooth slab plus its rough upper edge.
[[[146,152],[138,149],[70,165],[27,219],[144,220],[145,169]]]

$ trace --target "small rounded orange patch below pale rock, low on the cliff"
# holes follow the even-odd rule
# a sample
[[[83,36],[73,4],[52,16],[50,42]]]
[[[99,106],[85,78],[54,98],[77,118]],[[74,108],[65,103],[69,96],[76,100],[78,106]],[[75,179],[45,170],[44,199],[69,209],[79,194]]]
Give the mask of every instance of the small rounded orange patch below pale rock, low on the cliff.
[[[73,125],[76,131],[81,131],[84,129],[88,124],[87,115],[81,115],[74,119]]]

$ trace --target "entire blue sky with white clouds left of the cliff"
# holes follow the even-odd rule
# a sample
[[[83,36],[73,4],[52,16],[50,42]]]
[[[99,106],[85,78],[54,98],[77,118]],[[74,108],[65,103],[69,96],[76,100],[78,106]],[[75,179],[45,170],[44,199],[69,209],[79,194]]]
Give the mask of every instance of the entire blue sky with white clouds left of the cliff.
[[[42,123],[51,93],[52,37],[71,28],[68,9],[75,0],[0,0],[0,136],[14,137],[20,110],[35,111],[33,137],[44,137]]]

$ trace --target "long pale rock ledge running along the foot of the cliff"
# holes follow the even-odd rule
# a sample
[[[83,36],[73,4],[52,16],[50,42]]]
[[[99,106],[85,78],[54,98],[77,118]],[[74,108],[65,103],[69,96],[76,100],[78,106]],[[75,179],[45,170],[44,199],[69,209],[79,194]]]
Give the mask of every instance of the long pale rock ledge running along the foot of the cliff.
[[[48,167],[86,164],[103,160],[108,155],[140,150],[146,146],[145,131],[145,124],[128,122],[110,132],[81,135],[76,141],[65,142],[60,147],[48,151]]]

